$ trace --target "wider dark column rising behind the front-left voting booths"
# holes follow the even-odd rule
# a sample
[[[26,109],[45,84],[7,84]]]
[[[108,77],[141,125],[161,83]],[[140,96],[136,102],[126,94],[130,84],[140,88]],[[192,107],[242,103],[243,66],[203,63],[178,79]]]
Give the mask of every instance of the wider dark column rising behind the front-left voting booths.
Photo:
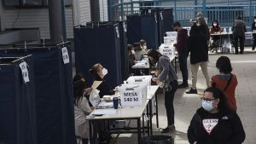
[[[64,0],[49,1],[49,31],[51,43],[67,41]]]

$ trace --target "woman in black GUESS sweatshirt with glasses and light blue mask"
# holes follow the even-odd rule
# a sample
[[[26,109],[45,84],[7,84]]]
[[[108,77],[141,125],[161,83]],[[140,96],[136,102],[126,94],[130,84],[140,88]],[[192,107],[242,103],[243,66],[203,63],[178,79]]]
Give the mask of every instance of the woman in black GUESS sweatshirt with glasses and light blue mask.
[[[189,124],[190,144],[241,144],[245,131],[236,112],[230,110],[224,93],[208,88]]]

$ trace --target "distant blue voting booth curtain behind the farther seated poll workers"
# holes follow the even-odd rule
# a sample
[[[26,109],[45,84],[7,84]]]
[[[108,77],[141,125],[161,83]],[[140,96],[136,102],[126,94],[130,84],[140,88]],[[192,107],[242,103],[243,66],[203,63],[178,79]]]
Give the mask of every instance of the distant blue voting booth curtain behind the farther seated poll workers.
[[[128,43],[133,44],[144,39],[148,49],[159,47],[156,15],[127,15],[126,20]]]

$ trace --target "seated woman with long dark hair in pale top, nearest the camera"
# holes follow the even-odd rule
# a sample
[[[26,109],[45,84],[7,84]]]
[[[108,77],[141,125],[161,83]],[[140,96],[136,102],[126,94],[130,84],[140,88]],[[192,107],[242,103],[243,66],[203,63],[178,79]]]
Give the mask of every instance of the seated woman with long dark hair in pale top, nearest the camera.
[[[75,135],[82,138],[83,144],[88,143],[89,125],[86,121],[86,116],[90,115],[92,109],[89,101],[84,96],[90,91],[85,89],[85,79],[78,74],[73,78],[73,96],[74,96],[74,116],[75,116]]]

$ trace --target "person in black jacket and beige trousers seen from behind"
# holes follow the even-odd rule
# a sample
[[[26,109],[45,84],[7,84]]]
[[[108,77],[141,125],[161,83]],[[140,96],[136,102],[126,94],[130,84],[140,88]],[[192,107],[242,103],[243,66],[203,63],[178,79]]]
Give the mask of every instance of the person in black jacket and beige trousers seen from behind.
[[[207,37],[200,32],[198,26],[193,25],[190,30],[190,36],[188,38],[188,50],[190,52],[190,64],[192,72],[192,88],[187,91],[187,94],[197,94],[196,82],[197,82],[197,72],[199,66],[201,66],[201,71],[206,78],[207,87],[210,87],[210,78],[207,69],[208,60],[208,43]]]

